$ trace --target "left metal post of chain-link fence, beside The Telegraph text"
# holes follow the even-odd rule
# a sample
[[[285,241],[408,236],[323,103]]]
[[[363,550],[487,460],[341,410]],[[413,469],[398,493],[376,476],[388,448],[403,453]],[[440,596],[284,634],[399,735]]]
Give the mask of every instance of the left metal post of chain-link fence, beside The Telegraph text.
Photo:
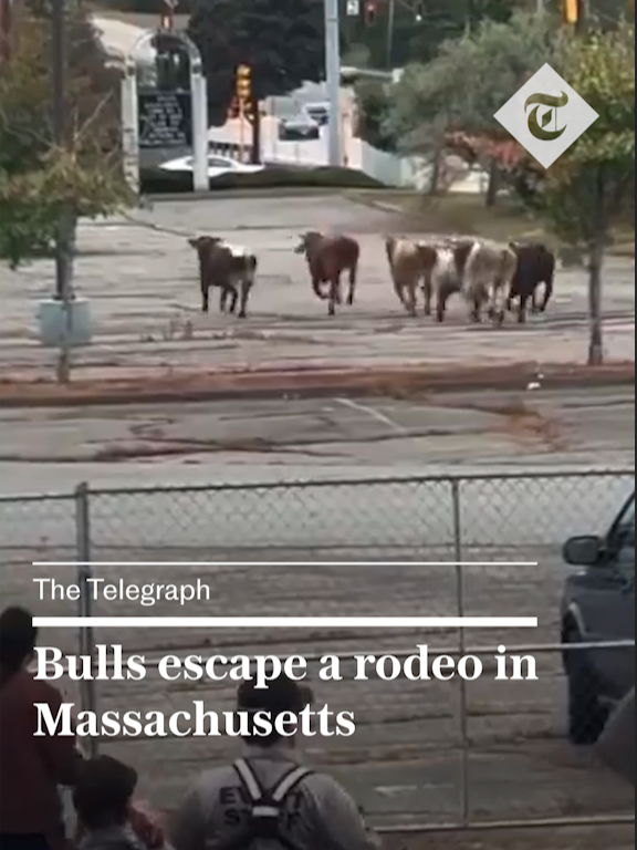
[[[88,579],[93,577],[91,567],[91,495],[86,483],[79,484],[75,488],[75,548],[77,552],[77,584],[80,585],[80,616],[90,618],[93,614],[93,600]],[[90,624],[80,626],[80,652],[82,655],[94,657],[95,642],[93,628]],[[81,703],[83,711],[96,711],[95,682],[88,680],[80,683]],[[88,738],[88,754],[95,758],[98,750],[98,742]]]

